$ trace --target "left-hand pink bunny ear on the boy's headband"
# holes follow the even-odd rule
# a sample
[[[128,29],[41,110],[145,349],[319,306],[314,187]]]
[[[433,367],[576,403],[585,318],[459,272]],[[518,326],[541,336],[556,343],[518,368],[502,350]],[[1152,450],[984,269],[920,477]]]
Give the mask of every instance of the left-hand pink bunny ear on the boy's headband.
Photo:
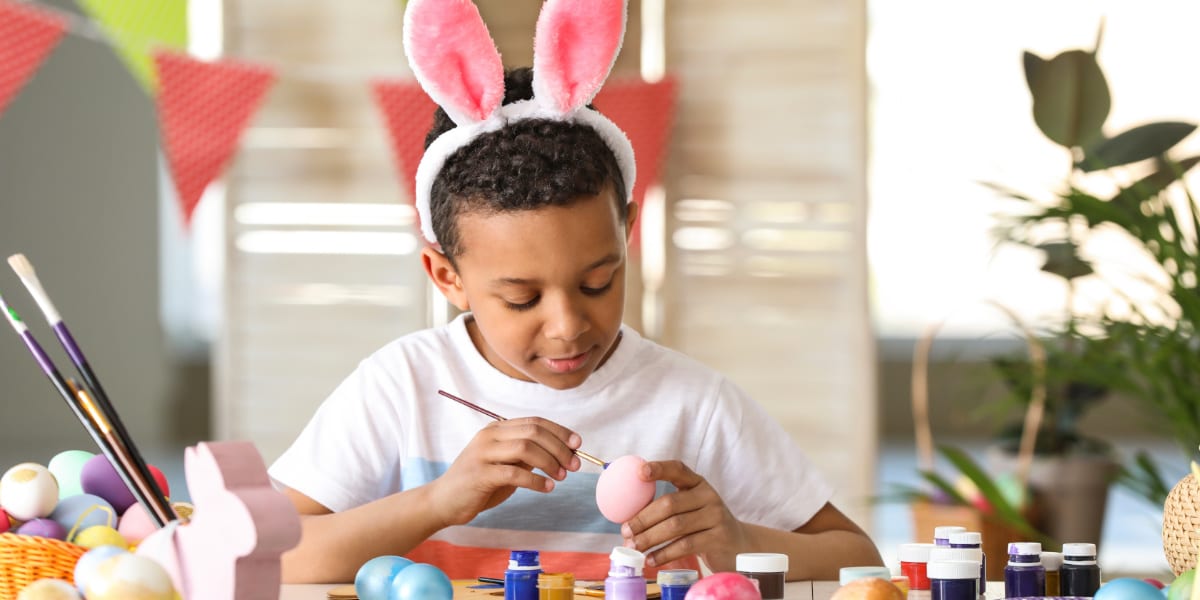
[[[470,0],[408,0],[404,53],[421,88],[457,125],[504,101],[504,66]]]

